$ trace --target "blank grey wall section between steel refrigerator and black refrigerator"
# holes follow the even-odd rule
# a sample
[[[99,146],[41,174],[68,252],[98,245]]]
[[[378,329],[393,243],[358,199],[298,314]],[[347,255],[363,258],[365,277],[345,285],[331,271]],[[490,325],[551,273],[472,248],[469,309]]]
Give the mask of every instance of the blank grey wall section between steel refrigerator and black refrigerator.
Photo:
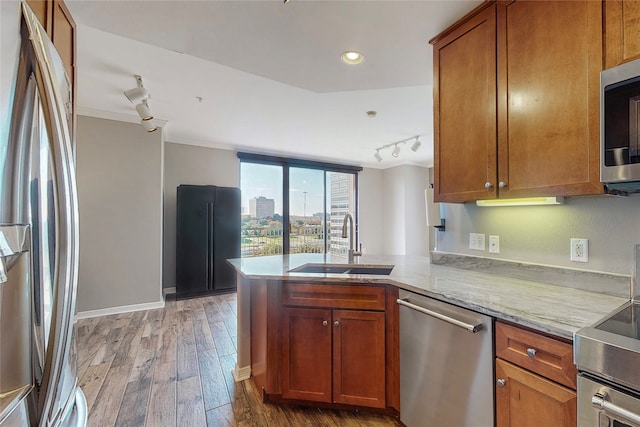
[[[78,311],[161,304],[162,132],[78,116]]]

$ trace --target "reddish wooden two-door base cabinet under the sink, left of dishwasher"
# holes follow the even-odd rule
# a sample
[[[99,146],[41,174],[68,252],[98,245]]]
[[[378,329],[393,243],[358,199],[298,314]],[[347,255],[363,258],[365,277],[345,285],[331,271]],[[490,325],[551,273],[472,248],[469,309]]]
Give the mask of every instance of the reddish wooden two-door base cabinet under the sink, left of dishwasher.
[[[252,281],[251,370],[263,399],[399,414],[397,288]]]

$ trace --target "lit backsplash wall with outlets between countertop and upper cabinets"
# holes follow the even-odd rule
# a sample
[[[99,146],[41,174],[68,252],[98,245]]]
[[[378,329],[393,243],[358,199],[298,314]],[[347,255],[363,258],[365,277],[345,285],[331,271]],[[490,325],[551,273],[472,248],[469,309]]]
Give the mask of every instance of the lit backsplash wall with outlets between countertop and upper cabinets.
[[[438,249],[512,261],[631,274],[640,243],[640,195],[565,198],[564,205],[481,208],[445,204]],[[500,253],[469,249],[469,233],[500,236]],[[569,260],[569,239],[589,239],[589,262]]]

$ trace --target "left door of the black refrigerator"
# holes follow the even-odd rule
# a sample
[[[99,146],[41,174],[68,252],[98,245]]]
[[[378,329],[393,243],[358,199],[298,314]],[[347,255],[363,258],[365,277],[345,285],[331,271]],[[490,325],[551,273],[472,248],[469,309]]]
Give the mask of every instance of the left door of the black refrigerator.
[[[212,290],[211,234],[216,187],[178,187],[176,293],[189,296]]]

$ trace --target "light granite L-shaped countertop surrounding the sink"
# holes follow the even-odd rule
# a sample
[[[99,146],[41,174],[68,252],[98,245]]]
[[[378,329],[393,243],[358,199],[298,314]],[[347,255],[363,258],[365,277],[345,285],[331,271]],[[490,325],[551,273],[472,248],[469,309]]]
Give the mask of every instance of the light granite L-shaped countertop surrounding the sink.
[[[392,284],[567,339],[630,299],[628,276],[469,257],[437,258],[441,264],[420,256],[375,255],[358,260],[361,265],[394,265],[388,276],[289,272],[307,263],[346,263],[345,258],[329,254],[274,255],[228,262],[249,279]]]

